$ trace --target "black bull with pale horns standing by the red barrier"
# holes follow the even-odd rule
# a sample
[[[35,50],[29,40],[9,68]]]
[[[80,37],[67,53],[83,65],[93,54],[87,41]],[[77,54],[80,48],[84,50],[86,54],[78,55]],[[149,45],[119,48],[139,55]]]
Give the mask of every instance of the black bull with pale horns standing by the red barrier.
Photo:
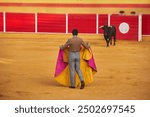
[[[112,37],[114,39],[114,45],[115,45],[116,44],[116,27],[104,25],[104,26],[101,26],[100,28],[104,30],[104,38],[106,40],[107,47],[109,46],[109,43],[112,44]]]

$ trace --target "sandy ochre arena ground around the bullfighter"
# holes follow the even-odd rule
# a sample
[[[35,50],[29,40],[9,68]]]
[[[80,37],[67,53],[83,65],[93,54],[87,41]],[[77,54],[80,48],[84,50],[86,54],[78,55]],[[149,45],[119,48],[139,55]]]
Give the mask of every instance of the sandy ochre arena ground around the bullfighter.
[[[150,99],[150,38],[107,48],[97,35],[79,35],[91,43],[98,69],[94,82],[80,90],[53,77],[58,47],[71,35],[25,36],[0,37],[0,99]]]

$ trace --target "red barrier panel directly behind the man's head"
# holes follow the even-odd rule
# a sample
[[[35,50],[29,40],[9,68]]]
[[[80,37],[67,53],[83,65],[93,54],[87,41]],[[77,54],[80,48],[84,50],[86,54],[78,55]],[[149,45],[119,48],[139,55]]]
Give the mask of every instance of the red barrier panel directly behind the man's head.
[[[69,14],[68,29],[77,28],[80,33],[96,33],[96,14]]]

